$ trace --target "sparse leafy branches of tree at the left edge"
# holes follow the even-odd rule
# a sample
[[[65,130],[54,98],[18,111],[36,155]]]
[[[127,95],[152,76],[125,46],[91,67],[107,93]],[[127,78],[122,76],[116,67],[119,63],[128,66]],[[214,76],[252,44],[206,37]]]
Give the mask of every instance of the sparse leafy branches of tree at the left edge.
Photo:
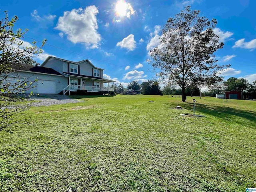
[[[46,41],[43,40],[40,47],[36,46],[36,42],[32,42],[32,46],[24,46],[21,38],[28,30],[14,31],[17,20],[17,16],[9,20],[7,12],[5,18],[0,20],[0,131],[11,132],[11,125],[27,122],[21,112],[28,109],[30,103],[18,96],[18,93],[30,89],[33,82],[28,80],[29,77],[19,78],[16,70],[40,54]]]

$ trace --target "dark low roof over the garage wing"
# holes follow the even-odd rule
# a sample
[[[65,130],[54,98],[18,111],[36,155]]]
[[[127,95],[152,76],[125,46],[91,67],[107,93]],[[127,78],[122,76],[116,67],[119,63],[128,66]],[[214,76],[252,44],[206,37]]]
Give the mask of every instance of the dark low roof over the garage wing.
[[[14,70],[19,70],[19,71],[28,71],[28,72],[37,72],[37,73],[45,73],[45,74],[52,74],[52,75],[61,75],[59,72],[52,68],[48,67],[39,67],[39,66],[34,66],[34,65],[26,65],[26,64],[16,64],[13,65],[12,68]]]

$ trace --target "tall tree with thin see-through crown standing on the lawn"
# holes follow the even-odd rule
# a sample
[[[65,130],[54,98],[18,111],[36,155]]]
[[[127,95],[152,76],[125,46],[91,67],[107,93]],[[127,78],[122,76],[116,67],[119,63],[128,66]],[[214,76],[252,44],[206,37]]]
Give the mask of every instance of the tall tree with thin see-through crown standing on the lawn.
[[[215,78],[218,71],[227,67],[216,64],[214,56],[224,45],[213,31],[217,21],[209,21],[199,14],[199,10],[191,11],[187,6],[169,18],[162,29],[160,44],[150,51],[149,63],[161,70],[160,77],[175,81],[182,88],[183,102],[186,102],[185,88],[194,77],[204,71],[207,78]]]

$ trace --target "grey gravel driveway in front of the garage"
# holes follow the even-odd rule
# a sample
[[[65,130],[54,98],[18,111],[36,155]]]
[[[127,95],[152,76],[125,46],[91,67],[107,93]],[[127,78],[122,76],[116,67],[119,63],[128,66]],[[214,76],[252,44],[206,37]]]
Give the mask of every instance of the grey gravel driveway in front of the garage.
[[[28,100],[40,101],[40,102],[35,102],[33,106],[50,106],[50,105],[82,102],[77,99],[70,98],[67,95],[58,95],[58,94],[40,94],[39,96],[35,95]]]

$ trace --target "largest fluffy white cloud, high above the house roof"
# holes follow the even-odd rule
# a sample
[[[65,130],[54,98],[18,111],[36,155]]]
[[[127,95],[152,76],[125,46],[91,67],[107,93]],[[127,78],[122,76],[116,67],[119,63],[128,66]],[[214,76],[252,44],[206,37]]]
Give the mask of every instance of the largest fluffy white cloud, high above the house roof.
[[[98,24],[96,15],[98,14],[96,6],[65,11],[62,17],[59,17],[56,29],[68,35],[68,40],[73,43],[83,43],[86,48],[98,48],[101,40],[98,34]]]

